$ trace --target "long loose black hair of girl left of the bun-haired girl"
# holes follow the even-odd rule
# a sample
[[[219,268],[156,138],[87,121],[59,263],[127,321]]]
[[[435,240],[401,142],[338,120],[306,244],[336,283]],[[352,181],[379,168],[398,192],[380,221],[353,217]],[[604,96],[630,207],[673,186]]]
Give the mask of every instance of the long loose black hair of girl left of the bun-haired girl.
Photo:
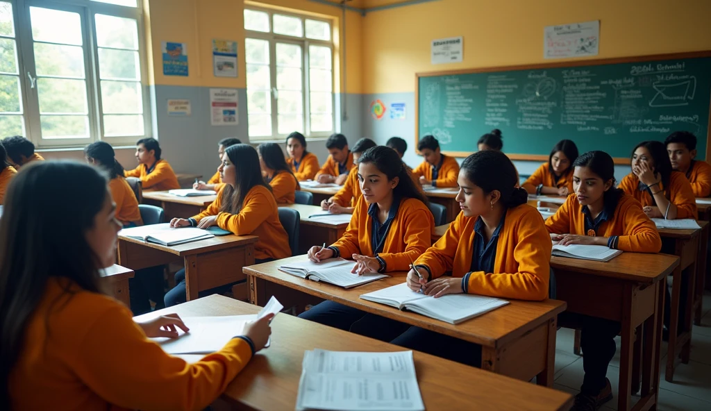
[[[417,198],[425,205],[429,205],[427,197],[422,194],[415,181],[412,181],[405,163],[402,162],[397,152],[390,147],[375,146],[365,150],[358,159],[358,164],[373,164],[375,168],[387,176],[388,180],[399,177],[397,186],[392,190],[394,196],[400,198]]]

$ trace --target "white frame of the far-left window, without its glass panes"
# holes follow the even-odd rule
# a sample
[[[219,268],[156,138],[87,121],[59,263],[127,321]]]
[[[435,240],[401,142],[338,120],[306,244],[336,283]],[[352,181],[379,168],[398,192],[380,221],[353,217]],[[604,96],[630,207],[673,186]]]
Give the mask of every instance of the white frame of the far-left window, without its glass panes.
[[[135,8],[91,0],[9,0],[9,3],[12,4],[15,23],[16,53],[20,75],[21,110],[23,111],[23,129],[27,139],[33,142],[38,149],[70,149],[83,147],[97,141],[105,141],[113,146],[133,146],[138,139],[151,137],[151,102],[146,87],[148,59],[146,58],[143,0],[137,0],[137,7]],[[80,14],[89,116],[88,139],[43,139],[43,137],[41,137],[38,93],[37,88],[32,87],[33,80],[29,77],[29,75],[31,75],[33,79],[36,80],[37,78],[29,13],[31,6],[71,11]],[[132,18],[137,22],[144,134],[115,137],[105,137],[104,135],[104,112],[101,105],[101,80],[99,77],[99,48],[97,46],[97,33],[95,29],[96,14]]]

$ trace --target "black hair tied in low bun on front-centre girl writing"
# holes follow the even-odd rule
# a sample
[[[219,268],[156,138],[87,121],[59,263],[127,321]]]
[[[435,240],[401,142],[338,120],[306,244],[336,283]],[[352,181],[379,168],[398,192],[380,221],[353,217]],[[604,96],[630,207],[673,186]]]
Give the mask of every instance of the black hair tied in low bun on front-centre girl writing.
[[[503,206],[515,207],[528,201],[524,188],[516,187],[516,169],[501,151],[476,151],[461,163],[466,179],[481,188],[484,194],[498,190]]]

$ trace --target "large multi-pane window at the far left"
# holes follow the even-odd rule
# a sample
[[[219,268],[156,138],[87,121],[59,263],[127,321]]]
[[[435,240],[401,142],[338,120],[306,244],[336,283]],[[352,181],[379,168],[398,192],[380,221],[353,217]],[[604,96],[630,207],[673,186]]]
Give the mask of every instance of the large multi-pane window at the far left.
[[[41,148],[146,137],[138,0],[0,0],[0,137]]]

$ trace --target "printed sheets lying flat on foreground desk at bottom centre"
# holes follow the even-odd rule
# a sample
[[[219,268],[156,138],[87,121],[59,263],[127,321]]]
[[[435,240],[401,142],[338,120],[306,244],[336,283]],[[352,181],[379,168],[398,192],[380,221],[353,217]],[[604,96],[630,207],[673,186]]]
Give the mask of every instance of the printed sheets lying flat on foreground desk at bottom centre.
[[[412,351],[304,352],[296,410],[424,411]]]

